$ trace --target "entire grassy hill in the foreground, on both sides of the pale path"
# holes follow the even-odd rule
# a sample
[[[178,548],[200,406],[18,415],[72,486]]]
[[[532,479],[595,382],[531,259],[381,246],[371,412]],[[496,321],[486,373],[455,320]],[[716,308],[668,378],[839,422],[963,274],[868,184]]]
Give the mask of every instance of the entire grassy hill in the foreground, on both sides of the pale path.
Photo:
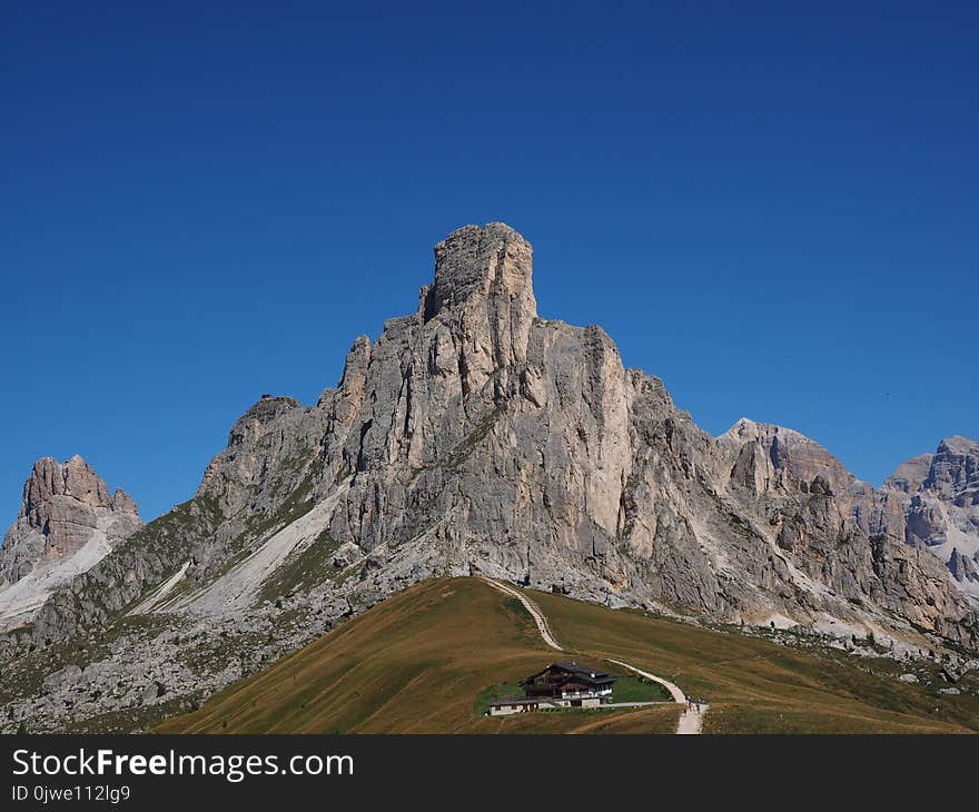
[[[673,677],[711,703],[705,732],[968,732],[979,697],[893,679],[886,660],[764,640],[533,593],[568,657],[605,656]],[[558,658],[517,601],[474,578],[419,584],[229,686],[159,732],[652,733],[679,711],[562,711],[490,719],[493,694]],[[918,666],[928,667],[928,666]],[[870,673],[871,670],[873,673]],[[614,670],[613,670],[614,671]],[[926,675],[927,677],[927,675]]]

